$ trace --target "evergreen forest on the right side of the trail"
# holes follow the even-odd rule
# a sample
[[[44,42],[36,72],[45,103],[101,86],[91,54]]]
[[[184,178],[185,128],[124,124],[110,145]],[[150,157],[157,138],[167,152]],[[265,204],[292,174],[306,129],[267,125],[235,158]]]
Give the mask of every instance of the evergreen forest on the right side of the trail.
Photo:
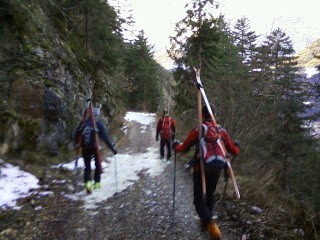
[[[201,66],[218,122],[241,140],[235,164],[254,186],[245,191],[266,201],[271,192],[292,194],[318,208],[319,135],[314,138],[305,123],[319,119],[319,113],[302,113],[308,111],[304,103],[310,97],[319,97],[319,85],[301,75],[283,30],[273,30],[258,44],[248,19],[229,26],[224,16],[209,14],[212,7],[212,1],[193,1],[171,37],[177,111],[196,108],[193,67]]]

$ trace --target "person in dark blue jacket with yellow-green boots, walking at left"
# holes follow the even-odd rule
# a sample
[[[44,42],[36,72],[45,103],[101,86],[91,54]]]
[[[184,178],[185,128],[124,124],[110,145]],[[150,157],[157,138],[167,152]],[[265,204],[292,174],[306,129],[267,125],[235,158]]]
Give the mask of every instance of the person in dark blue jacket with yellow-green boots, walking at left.
[[[92,192],[93,188],[98,189],[101,187],[101,169],[99,169],[98,161],[97,161],[97,150],[96,148],[99,146],[95,146],[95,141],[94,141],[94,131],[97,131],[99,138],[102,139],[106,145],[111,149],[111,151],[114,154],[117,154],[117,150],[114,148],[112,145],[108,133],[105,129],[105,127],[97,120],[98,116],[100,115],[100,108],[93,108],[92,109],[93,115],[95,117],[95,122],[96,122],[96,127],[97,129],[95,130],[93,127],[93,124],[90,120],[90,117],[87,117],[85,122],[82,124],[80,123],[77,131],[76,131],[76,136],[75,140],[76,143],[78,143],[79,138],[81,139],[81,148],[82,148],[82,157],[84,159],[84,183],[85,183],[85,188],[88,192]],[[91,159],[94,157],[95,160],[95,171],[94,171],[94,185],[92,187],[92,182],[91,182]]]

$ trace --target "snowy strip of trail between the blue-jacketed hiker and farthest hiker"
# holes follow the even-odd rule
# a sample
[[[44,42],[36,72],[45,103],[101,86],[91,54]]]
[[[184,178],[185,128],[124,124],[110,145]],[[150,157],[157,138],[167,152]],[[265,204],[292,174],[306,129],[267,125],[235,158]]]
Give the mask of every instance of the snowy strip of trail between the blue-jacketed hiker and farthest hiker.
[[[125,116],[124,131],[127,139],[118,154],[107,157],[103,162],[101,188],[87,195],[85,190],[76,194],[84,201],[84,208],[94,210],[99,203],[126,189],[139,179],[139,173],[145,171],[150,176],[160,174],[167,163],[160,159],[158,143],[155,141],[155,114],[128,112]],[[72,169],[74,162],[63,165]],[[83,168],[83,160],[79,161]],[[92,169],[94,164],[92,161]],[[81,173],[82,174],[82,173]],[[82,183],[81,183],[82,184]]]

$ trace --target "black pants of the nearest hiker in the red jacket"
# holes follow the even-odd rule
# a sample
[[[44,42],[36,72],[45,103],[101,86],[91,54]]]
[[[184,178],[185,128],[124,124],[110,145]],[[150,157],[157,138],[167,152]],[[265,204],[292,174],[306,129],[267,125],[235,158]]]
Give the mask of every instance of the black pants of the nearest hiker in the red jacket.
[[[224,163],[221,161],[212,161],[209,164],[205,164],[206,199],[203,199],[199,161],[197,161],[195,165],[198,166],[194,168],[195,171],[193,172],[194,205],[201,221],[204,224],[207,224],[212,220],[212,210],[215,202],[214,192],[217,187],[221,170],[224,167]]]

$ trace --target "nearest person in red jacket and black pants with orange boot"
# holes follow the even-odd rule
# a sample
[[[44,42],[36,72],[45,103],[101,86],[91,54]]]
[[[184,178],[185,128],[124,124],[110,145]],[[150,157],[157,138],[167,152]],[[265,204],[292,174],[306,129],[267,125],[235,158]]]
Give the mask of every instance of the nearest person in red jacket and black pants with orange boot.
[[[211,106],[211,105],[210,105]],[[214,109],[211,106],[214,114]],[[209,110],[207,106],[202,108],[203,124],[202,124],[202,139],[201,148],[205,168],[206,180],[206,198],[203,198],[201,168],[200,168],[200,149],[198,128],[190,131],[187,138],[182,144],[174,142],[172,148],[176,152],[186,152],[192,146],[196,146],[193,162],[193,191],[195,209],[201,219],[201,222],[206,226],[210,239],[221,239],[221,233],[217,224],[212,219],[212,211],[214,206],[214,192],[220,177],[221,170],[226,167],[226,154],[221,148],[220,141],[225,144],[226,150],[233,156],[240,152],[239,144],[234,143],[229,137],[225,129],[220,128],[221,139],[217,138],[217,133],[212,126]]]

